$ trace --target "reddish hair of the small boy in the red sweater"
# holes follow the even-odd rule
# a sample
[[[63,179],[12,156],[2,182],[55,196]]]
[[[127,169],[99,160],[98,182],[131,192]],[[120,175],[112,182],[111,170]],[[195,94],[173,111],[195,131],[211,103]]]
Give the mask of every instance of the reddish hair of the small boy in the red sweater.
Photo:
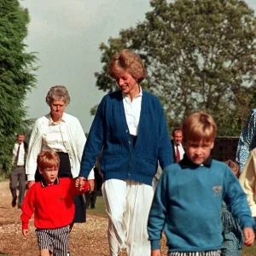
[[[38,154],[38,169],[42,172],[45,169],[56,168],[59,169],[60,166],[60,158],[57,153],[54,151],[44,151]]]

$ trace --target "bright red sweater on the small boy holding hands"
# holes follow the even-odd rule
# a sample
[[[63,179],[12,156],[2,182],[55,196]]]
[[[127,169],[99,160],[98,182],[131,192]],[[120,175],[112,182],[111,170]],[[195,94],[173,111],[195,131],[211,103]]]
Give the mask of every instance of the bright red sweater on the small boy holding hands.
[[[34,224],[38,229],[56,229],[67,226],[73,222],[74,195],[84,194],[89,188],[84,183],[84,190],[75,187],[75,179],[69,177],[59,178],[58,184],[46,187],[35,183],[26,192],[22,204],[22,230],[28,229],[29,219],[34,214]]]

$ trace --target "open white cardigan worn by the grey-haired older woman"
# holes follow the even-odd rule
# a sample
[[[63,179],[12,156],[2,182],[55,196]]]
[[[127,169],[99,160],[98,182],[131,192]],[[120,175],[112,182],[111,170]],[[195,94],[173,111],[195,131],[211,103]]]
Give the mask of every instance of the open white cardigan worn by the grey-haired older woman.
[[[64,124],[63,130],[67,131],[65,148],[67,148],[67,153],[69,155],[72,176],[78,177],[86,137],[79,119],[73,115],[63,113],[62,120]],[[33,127],[26,158],[26,175],[28,181],[35,180],[37,157],[42,151],[42,136],[44,132],[47,131],[49,123],[50,114],[47,114],[37,119]],[[93,169],[90,171],[88,179],[94,179]]]

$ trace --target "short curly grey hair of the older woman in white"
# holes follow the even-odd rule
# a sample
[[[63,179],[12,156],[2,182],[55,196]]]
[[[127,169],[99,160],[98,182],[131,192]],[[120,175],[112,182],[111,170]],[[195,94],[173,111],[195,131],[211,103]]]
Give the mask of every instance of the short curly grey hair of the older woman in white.
[[[55,85],[49,89],[45,100],[48,105],[55,100],[62,100],[67,106],[70,102],[70,96],[65,86]]]

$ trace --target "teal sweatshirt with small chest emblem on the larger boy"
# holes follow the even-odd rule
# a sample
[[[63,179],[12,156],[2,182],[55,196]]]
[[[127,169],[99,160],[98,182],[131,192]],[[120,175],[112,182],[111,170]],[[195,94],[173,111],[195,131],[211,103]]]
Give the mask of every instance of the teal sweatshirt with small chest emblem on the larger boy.
[[[151,248],[160,248],[164,229],[169,252],[201,252],[221,247],[221,204],[241,228],[253,228],[247,196],[230,167],[209,158],[197,166],[185,155],[160,177],[148,217]]]

